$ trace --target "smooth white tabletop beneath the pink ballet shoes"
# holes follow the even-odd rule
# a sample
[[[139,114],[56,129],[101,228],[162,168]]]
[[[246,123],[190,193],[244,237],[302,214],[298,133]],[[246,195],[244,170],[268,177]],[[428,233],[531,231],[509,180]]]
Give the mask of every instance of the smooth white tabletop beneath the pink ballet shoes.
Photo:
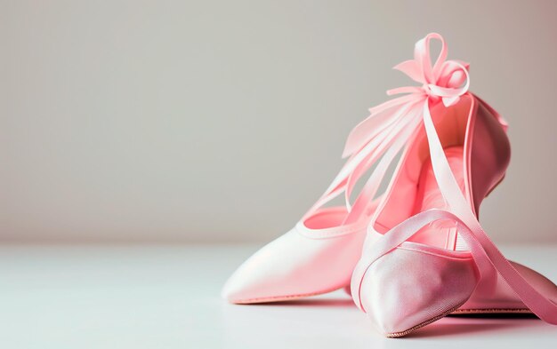
[[[557,348],[557,327],[524,317],[448,317],[384,338],[342,291],[226,304],[222,283],[257,247],[0,245],[0,347]],[[502,250],[557,281],[557,245]]]

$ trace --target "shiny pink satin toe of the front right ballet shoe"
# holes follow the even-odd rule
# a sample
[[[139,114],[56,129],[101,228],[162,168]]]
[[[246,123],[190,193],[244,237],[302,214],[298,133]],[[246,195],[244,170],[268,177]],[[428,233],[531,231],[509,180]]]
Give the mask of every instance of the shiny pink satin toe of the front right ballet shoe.
[[[369,266],[361,306],[377,329],[397,333],[462,305],[478,277],[468,252],[403,242]]]

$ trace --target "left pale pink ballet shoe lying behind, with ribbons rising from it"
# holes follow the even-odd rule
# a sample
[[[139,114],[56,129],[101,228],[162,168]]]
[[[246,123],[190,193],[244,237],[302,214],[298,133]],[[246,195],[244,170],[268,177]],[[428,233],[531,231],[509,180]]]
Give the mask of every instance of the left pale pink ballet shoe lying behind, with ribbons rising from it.
[[[223,298],[235,304],[266,303],[350,287],[369,218],[379,202],[372,200],[378,176],[367,179],[353,207],[349,199],[359,178],[383,154],[390,129],[361,123],[352,131],[343,154],[350,157],[325,194],[293,229],[238,267],[222,289]],[[363,141],[365,147],[355,147]],[[323,208],[339,194],[344,194],[346,207]]]

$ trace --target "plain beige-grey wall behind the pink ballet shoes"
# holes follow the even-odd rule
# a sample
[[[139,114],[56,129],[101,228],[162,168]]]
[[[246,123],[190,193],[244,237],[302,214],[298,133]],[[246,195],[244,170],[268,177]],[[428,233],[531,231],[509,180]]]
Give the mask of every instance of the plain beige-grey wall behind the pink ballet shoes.
[[[430,31],[511,124],[481,212],[557,241],[557,3],[0,0],[0,239],[267,241]]]

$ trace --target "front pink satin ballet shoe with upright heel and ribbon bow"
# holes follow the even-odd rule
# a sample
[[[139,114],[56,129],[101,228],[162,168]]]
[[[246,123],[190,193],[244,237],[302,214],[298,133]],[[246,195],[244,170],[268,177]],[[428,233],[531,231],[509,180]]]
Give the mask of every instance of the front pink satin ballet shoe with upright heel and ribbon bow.
[[[432,39],[442,44],[433,65]],[[370,120],[399,125],[392,144],[404,151],[370,219],[354,302],[387,337],[448,313],[528,311],[557,324],[557,286],[508,261],[478,222],[510,160],[506,123],[468,91],[468,66],[446,57],[440,35],[418,41],[415,59],[396,68],[423,85],[389,91],[408,94],[372,109]]]

